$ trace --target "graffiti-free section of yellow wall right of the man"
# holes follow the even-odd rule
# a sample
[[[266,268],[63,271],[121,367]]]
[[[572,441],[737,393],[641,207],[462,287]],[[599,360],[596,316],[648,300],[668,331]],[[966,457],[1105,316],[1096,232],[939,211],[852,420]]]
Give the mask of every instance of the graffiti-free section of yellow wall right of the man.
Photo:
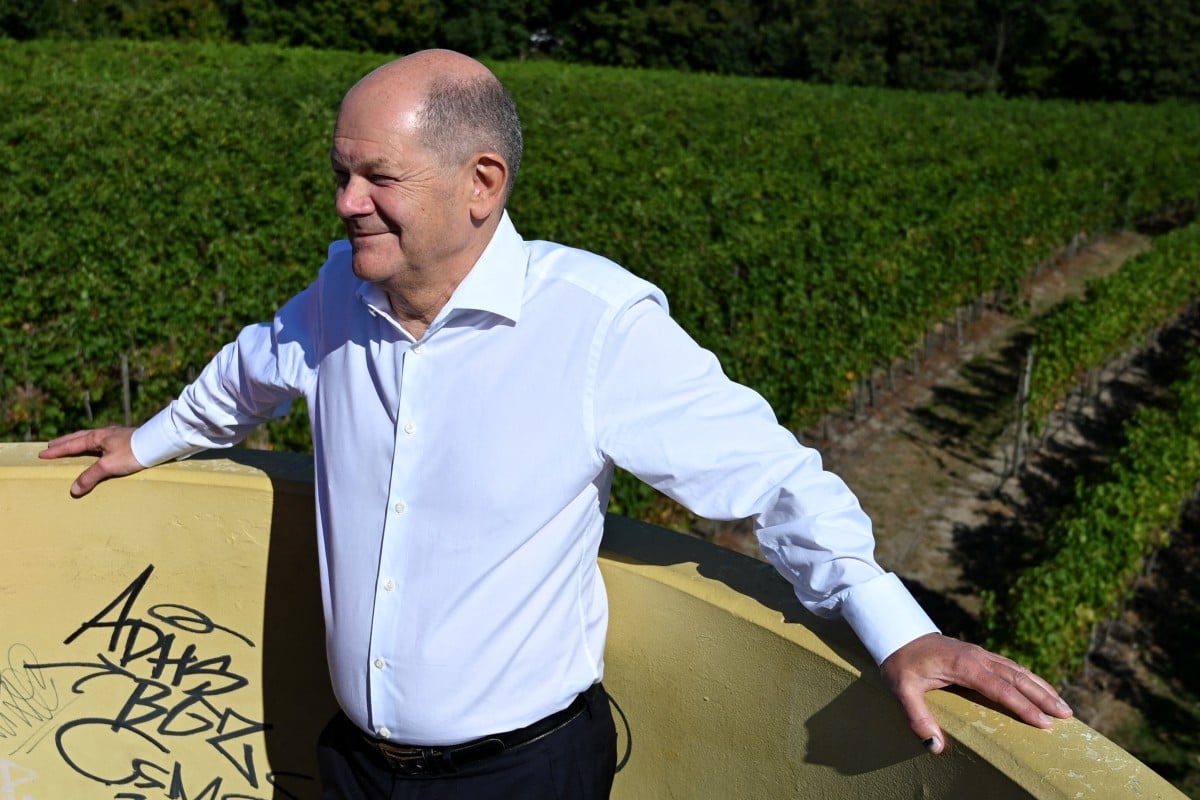
[[[1186,800],[1081,722],[1038,730],[952,692],[929,696],[950,736],[929,756],[850,630],[769,565],[629,519],[605,542],[622,800]]]

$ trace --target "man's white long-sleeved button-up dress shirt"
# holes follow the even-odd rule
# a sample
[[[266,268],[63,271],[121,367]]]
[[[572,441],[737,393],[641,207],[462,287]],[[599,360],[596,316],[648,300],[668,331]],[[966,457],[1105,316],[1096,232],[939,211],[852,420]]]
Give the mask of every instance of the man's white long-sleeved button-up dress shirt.
[[[704,517],[757,517],[800,602],[845,618],[876,661],[936,630],[875,563],[854,495],[655,287],[526,242],[508,215],[415,341],[335,242],[271,324],[241,331],[136,432],[134,455],[229,446],[299,396],[334,691],[380,738],[520,728],[601,678],[614,465]]]

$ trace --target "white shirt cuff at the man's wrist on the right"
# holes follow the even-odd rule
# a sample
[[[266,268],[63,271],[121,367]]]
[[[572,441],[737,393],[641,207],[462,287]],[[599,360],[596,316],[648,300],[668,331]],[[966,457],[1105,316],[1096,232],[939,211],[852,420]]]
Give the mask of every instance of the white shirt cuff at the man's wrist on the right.
[[[894,572],[847,589],[841,615],[877,664],[917,637],[941,632]]]

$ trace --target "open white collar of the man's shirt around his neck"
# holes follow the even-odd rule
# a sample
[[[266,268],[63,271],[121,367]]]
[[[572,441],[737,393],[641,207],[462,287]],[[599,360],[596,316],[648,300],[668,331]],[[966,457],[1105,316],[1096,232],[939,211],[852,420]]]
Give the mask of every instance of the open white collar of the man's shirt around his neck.
[[[512,225],[509,212],[502,212],[492,240],[438,312],[430,325],[430,332],[440,327],[457,311],[481,311],[512,323],[518,321],[528,260],[524,240]],[[394,319],[391,302],[379,285],[362,281],[359,283],[358,295],[372,312]]]

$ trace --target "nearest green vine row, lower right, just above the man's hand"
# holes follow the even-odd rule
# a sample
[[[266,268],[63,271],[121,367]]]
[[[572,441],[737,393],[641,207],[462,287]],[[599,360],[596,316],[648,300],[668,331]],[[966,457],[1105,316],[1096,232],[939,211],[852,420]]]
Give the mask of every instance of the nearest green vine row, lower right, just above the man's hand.
[[[1075,489],[1033,566],[1004,596],[989,594],[989,646],[1051,680],[1086,656],[1094,626],[1129,597],[1144,558],[1166,545],[1200,482],[1200,348],[1168,408],[1142,408],[1104,479]]]

